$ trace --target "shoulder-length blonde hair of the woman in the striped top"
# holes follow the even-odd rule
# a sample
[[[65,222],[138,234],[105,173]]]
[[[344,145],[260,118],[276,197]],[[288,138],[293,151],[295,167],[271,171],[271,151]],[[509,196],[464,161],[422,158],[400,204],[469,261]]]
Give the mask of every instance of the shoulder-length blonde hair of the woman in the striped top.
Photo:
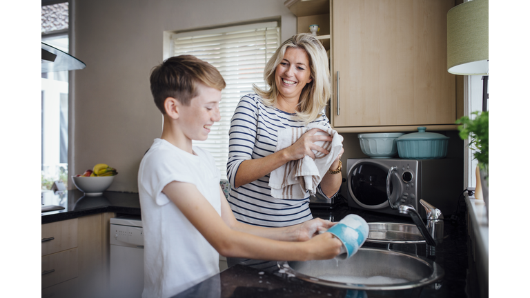
[[[296,34],[290,39],[287,39],[282,46],[277,48],[273,57],[266,63],[264,70],[264,80],[271,86],[268,91],[253,85],[254,92],[262,97],[266,106],[274,106],[279,95],[276,86],[275,74],[276,67],[282,59],[287,48],[300,48],[306,51],[309,57],[309,66],[311,68],[311,82],[307,83],[302,89],[300,99],[298,101],[298,109],[296,111],[297,117],[300,118],[304,124],[320,117],[322,110],[328,103],[331,97],[331,82],[329,77],[328,56],[322,43],[316,37],[308,33]]]

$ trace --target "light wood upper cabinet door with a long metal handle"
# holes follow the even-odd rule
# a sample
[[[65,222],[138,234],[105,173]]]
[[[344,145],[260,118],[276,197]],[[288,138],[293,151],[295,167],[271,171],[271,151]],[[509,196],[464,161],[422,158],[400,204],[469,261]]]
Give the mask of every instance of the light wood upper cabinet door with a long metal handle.
[[[335,128],[415,130],[455,123],[455,75],[446,62],[446,14],[454,4],[333,0],[334,88],[340,76],[331,98]]]

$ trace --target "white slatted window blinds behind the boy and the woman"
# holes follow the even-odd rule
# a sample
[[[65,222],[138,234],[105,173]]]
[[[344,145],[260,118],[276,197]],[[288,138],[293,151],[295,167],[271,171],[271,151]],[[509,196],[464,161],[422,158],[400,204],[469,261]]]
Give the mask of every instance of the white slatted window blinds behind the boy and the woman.
[[[226,179],[228,130],[239,99],[252,92],[252,85],[265,89],[263,70],[279,46],[277,22],[217,28],[173,34],[173,54],[193,54],[221,72],[226,81],[220,103],[221,121],[212,126],[206,141],[193,141],[213,157],[221,178]]]

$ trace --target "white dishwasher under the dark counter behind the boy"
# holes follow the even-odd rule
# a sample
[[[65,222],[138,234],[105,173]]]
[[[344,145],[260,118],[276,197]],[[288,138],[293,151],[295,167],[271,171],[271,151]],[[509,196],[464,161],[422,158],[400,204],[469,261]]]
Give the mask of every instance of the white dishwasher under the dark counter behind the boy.
[[[111,297],[141,297],[144,290],[144,228],[139,215],[110,219]]]

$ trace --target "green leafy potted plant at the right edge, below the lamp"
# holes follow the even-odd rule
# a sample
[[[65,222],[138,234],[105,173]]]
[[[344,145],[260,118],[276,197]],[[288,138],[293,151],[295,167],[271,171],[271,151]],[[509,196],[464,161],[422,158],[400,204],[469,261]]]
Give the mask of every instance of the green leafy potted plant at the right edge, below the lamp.
[[[473,157],[478,161],[480,171],[480,186],[482,188],[482,197],[488,210],[488,186],[489,186],[489,120],[488,111],[472,112],[475,115],[473,119],[464,116],[456,121],[460,138],[469,140],[469,148],[474,150]],[[486,211],[487,212],[487,211]]]

